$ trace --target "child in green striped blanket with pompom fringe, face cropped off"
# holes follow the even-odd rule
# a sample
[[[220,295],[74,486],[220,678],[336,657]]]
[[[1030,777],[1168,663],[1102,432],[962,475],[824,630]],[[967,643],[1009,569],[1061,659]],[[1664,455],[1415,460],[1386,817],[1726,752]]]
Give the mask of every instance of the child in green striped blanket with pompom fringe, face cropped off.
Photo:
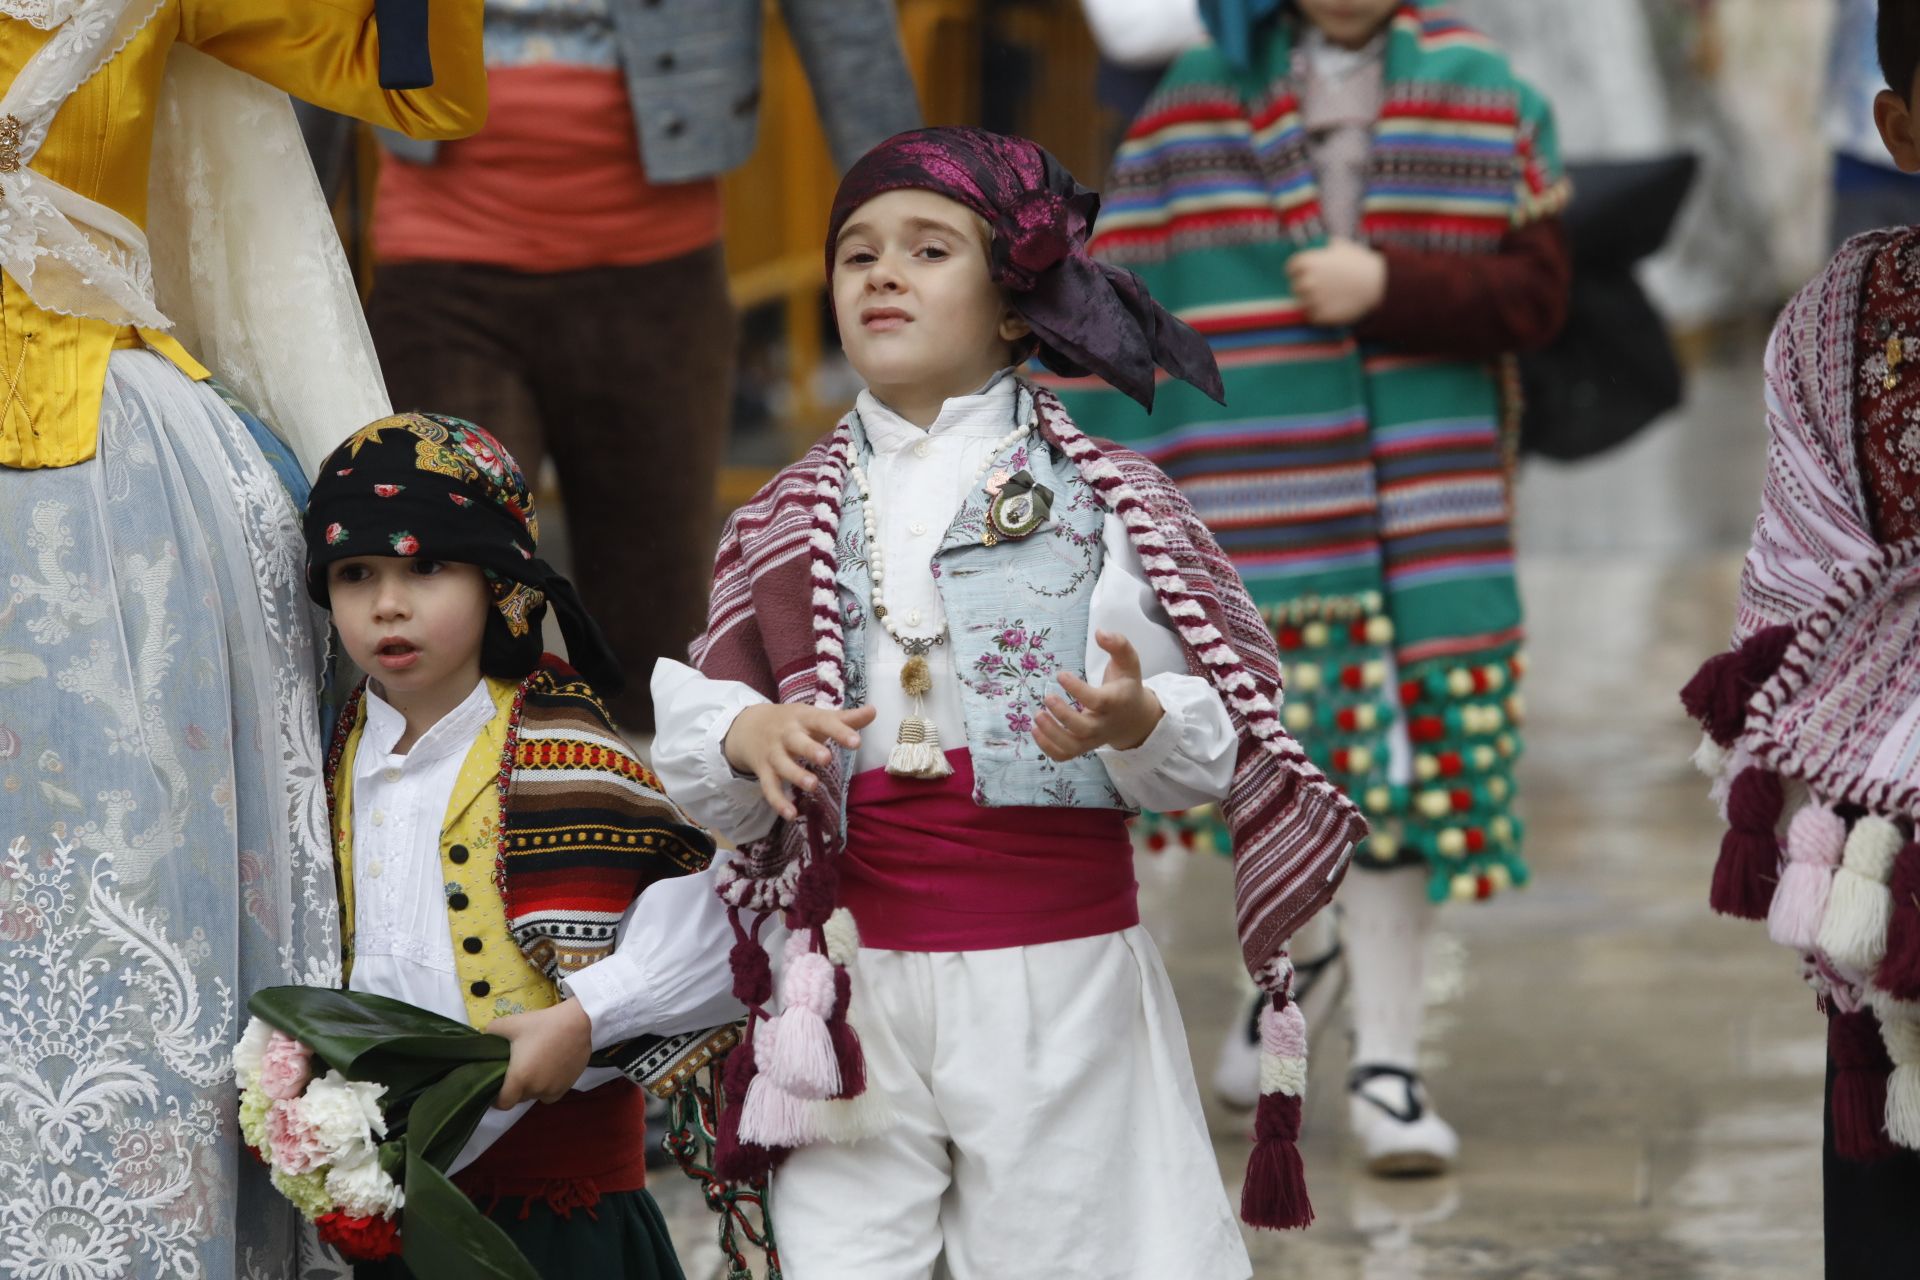
[[[1503,357],[1561,322],[1567,186],[1544,102],[1436,4],[1202,15],[1213,44],[1129,130],[1092,251],[1212,340],[1227,401],[1064,399],[1192,499],[1279,641],[1286,727],[1373,823],[1340,896],[1352,1125],[1375,1173],[1438,1173],[1459,1140],[1419,1075],[1434,904],[1526,881]],[[1252,1094],[1240,1046],[1225,1092]]]

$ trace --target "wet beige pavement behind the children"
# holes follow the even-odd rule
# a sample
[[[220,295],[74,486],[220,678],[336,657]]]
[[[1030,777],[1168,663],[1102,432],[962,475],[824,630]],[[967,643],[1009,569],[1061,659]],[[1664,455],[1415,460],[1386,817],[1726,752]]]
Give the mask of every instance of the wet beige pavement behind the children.
[[[1732,618],[1764,455],[1757,368],[1740,344],[1617,455],[1526,470],[1536,877],[1442,915],[1428,990],[1427,1071],[1461,1163],[1423,1182],[1359,1171],[1329,1027],[1304,1136],[1319,1221],[1250,1234],[1258,1276],[1820,1274],[1822,1021],[1788,952],[1707,912],[1718,823],[1674,697]],[[1242,1009],[1229,881],[1210,856],[1140,865],[1202,1082]],[[1212,1098],[1208,1117],[1236,1196],[1248,1123]],[[668,1171],[655,1190],[687,1274],[718,1274],[691,1188]]]

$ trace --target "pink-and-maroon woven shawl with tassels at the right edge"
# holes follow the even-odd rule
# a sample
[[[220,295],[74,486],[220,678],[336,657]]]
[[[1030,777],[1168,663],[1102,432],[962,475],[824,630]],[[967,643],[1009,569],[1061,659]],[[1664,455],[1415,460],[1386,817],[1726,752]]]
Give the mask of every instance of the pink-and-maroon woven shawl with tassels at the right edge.
[[[1855,345],[1868,271],[1916,236],[1849,240],[1774,326],[1734,647],[1682,691],[1728,823],[1713,908],[1801,956],[1849,1161],[1920,1150],[1920,539],[1874,537]]]

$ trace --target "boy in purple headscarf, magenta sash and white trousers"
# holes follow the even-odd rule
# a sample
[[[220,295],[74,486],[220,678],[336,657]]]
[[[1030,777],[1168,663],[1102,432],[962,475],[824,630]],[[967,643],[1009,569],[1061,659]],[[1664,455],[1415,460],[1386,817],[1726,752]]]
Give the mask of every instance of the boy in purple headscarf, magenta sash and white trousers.
[[[795,1280],[1250,1274],[1125,818],[1225,802],[1267,992],[1242,1213],[1309,1221],[1283,938],[1365,823],[1281,729],[1273,639],[1192,509],[1012,372],[1142,403],[1206,344],[1085,253],[1041,148],[900,134],[849,171],[828,265],[854,411],[735,512],[655,758],[743,844],[724,1159],[778,1165]],[[791,925],[776,1011],[768,915]]]

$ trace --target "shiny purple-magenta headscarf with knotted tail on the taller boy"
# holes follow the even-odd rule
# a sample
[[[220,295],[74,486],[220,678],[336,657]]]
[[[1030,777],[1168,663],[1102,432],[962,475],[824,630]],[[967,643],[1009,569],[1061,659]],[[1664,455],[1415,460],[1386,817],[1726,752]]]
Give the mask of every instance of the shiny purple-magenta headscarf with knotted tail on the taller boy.
[[[985,129],[914,129],[862,155],[833,196],[833,246],[852,211],[876,196],[925,190],[987,221],[987,269],[1033,326],[1041,359],[1068,378],[1094,374],[1154,407],[1154,367],[1225,403],[1213,349],[1123,267],[1087,255],[1100,196],[1044,148]]]

